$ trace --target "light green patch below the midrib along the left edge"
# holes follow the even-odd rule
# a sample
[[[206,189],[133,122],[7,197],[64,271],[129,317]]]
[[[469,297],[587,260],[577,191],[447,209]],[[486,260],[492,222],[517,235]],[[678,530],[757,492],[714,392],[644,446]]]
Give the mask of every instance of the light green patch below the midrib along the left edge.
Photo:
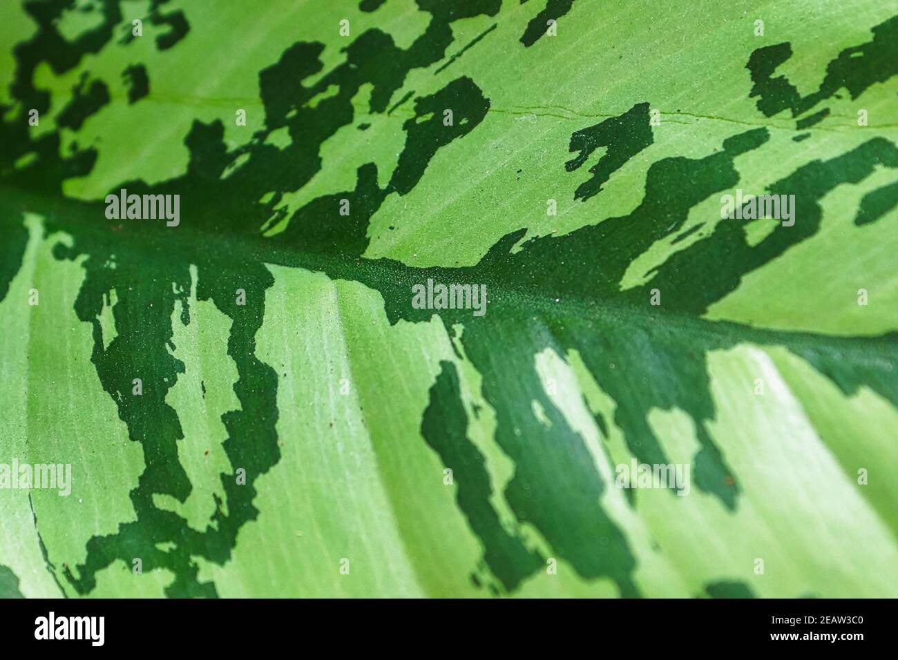
[[[68,239],[55,234],[40,240],[40,224],[33,218],[29,223],[27,263],[31,265],[20,275],[30,277],[31,282],[19,286],[37,289],[40,304],[28,306],[22,291],[11,291],[4,300],[10,304],[5,322],[13,323],[13,329],[18,323],[20,338],[8,346],[20,347],[25,360],[19,371],[5,374],[4,383],[11,385],[9,392],[14,393],[16,402],[4,409],[13,411],[11,420],[17,420],[20,429],[8,436],[20,438],[22,444],[14,450],[20,462],[71,465],[69,495],[60,496],[57,489],[31,490],[49,559],[57,565],[62,581],[59,562],[63,559],[57,558],[74,566],[84,560],[84,546],[92,536],[116,532],[119,523],[136,518],[128,493],[136,487],[144,460],[143,450],[128,439],[115,403],[102,390],[90,362],[91,326],[75,317],[75,296],[84,271],[75,262],[52,256],[53,245]],[[14,312],[18,306],[21,309]],[[31,517],[30,510],[27,514],[22,511],[28,506],[27,498],[16,499],[19,510],[13,518],[26,524]],[[31,526],[33,529],[33,523]],[[20,529],[13,538],[22,533]],[[20,538],[18,542],[25,541]],[[32,555],[22,552],[21,556]],[[33,556],[40,558],[40,550]],[[14,562],[3,563],[18,568]],[[25,573],[22,589],[41,593],[40,589],[46,588],[33,583],[27,571],[21,572]]]

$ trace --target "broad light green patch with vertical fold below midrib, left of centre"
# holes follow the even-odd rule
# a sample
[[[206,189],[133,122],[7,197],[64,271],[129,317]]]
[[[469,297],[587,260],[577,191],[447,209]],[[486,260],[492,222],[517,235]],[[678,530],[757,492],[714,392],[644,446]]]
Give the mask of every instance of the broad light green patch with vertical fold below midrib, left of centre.
[[[439,562],[415,561],[393,508],[396,500],[384,486],[378,451],[386,444],[392,460],[400,461],[397,468],[412,480],[417,489],[412,499],[420,502],[410,504],[434,506],[439,496],[450,494],[441,483],[442,466],[431,468],[433,495],[420,484],[421,458],[429,459],[429,450],[415,432],[390,426],[392,415],[390,424],[378,422],[381,409],[389,413],[409,405],[404,403],[409,393],[392,388],[385,405],[383,389],[366,381],[370,370],[358,361],[392,363],[402,350],[417,353],[433,339],[423,332],[393,338],[383,311],[374,313],[375,304],[383,305],[379,296],[363,287],[304,270],[269,268],[276,284],[267,292],[257,354],[277,371],[281,459],[256,481],[254,504],[262,513],[242,529],[233,559],[224,568],[200,561],[201,575],[215,578],[223,596],[423,595],[435,578],[421,573],[448,571]],[[346,305],[360,308],[333,313]],[[369,354],[365,348],[365,355],[357,356],[358,335],[369,326],[390,333],[383,337],[384,351]],[[406,372],[411,373],[418,372]],[[426,397],[426,384],[423,393]],[[414,424],[415,418],[405,420]],[[408,444],[401,443],[403,437],[418,451],[402,451],[397,441]],[[349,560],[348,575],[339,572],[341,559]]]

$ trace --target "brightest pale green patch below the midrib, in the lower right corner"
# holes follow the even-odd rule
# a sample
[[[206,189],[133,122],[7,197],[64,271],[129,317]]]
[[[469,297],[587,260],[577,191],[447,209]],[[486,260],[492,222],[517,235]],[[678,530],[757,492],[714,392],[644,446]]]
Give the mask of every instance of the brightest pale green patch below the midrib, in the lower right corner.
[[[764,351],[749,346],[709,356],[718,409],[709,432],[742,495],[735,513],[698,488],[686,497],[640,490],[637,510],[691,590],[744,582],[762,597],[874,597],[893,593],[894,537],[869,506]],[[753,394],[754,379],[767,383]],[[671,462],[699,449],[684,413],[653,412]],[[800,533],[797,532],[800,530]],[[756,567],[763,562],[763,574]]]

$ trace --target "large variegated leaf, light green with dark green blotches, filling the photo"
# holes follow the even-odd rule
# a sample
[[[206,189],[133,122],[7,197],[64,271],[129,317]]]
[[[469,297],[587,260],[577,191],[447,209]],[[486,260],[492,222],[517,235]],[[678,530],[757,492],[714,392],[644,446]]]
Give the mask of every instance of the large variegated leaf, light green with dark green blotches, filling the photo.
[[[0,595],[898,595],[898,16],[670,5],[4,4]]]

